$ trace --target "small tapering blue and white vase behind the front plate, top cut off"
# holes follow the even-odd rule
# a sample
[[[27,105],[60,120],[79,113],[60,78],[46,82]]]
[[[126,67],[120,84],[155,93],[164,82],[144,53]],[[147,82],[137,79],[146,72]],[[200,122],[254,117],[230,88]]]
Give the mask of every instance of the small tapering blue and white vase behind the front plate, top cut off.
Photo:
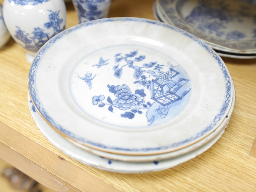
[[[72,0],[79,23],[108,17],[111,0]]]

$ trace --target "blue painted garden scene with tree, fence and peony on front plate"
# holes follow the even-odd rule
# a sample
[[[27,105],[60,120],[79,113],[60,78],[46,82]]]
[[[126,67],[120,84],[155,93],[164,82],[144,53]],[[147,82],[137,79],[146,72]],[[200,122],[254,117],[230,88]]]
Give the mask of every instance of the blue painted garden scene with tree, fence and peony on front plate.
[[[117,86],[108,85],[109,92],[114,93],[115,98],[112,100],[109,96],[107,102],[104,102],[104,95],[94,95],[92,98],[93,105],[99,104],[99,107],[108,105],[108,110],[111,112],[114,112],[114,108],[125,111],[121,114],[121,117],[128,119],[133,119],[136,113],[142,114],[142,111],[146,110],[150,125],[156,119],[165,118],[170,109],[170,105],[182,100],[182,98],[190,91],[190,89],[188,89],[185,90],[182,95],[176,94],[189,79],[181,77],[178,81],[175,81],[173,78],[179,75],[179,72],[174,70],[177,66],[173,66],[170,62],[167,63],[168,71],[165,72],[162,71],[165,65],[158,64],[157,61],[138,65],[137,63],[144,61],[146,56],[138,55],[137,50],[124,54],[124,56],[122,53],[115,54],[114,58],[116,63],[112,68],[114,77],[118,79],[121,78],[125,67],[134,69],[133,78],[136,79],[136,81],[133,83],[137,84],[137,87],[141,86],[144,89],[151,90],[150,97],[152,101],[157,104],[154,103],[154,106],[152,106],[149,101],[145,103],[144,97],[146,94],[144,89],[136,89],[135,93],[133,93],[128,85],[123,84]],[[102,57],[100,57],[99,64],[93,66],[98,66],[99,68],[108,60],[109,59],[103,60]],[[150,68],[153,70],[150,70]],[[88,77],[88,79],[90,79],[90,77]]]

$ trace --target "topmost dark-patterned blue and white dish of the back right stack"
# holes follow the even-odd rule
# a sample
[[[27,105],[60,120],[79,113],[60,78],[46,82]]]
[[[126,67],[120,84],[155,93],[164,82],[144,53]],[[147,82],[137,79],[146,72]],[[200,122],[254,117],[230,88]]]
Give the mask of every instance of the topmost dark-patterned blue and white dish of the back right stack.
[[[256,5],[241,0],[157,0],[170,23],[232,53],[256,53]]]

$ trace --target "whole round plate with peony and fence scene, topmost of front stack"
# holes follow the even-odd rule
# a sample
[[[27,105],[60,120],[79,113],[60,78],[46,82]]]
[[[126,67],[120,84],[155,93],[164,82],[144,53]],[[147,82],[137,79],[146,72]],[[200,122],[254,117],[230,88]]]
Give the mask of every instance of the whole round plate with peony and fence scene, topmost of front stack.
[[[40,115],[100,151],[167,153],[214,132],[233,97],[225,63],[203,41],[142,18],[106,18],[50,39],[29,72]]]

